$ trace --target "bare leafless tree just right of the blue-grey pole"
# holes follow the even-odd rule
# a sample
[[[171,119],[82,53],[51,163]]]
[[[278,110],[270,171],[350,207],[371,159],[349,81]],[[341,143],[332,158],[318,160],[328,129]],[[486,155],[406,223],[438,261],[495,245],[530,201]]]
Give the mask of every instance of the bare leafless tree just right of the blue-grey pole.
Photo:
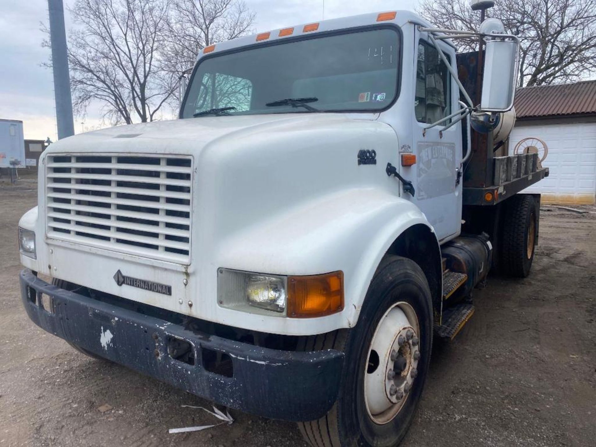
[[[75,107],[99,101],[113,123],[155,119],[176,87],[159,76],[169,0],[77,0],[70,13]]]

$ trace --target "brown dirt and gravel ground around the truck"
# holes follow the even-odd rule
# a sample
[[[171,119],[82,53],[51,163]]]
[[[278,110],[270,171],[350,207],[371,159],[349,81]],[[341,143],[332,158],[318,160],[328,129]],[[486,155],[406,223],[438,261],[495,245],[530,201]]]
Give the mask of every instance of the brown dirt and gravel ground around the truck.
[[[16,235],[33,188],[0,185],[0,447],[305,446],[294,424],[239,411],[231,425],[168,434],[217,423],[181,406],[210,403],[87,358],[30,322]],[[543,211],[530,277],[489,278],[458,338],[435,343],[403,447],[596,445],[594,290],[596,213]],[[104,404],[111,409],[101,412]]]

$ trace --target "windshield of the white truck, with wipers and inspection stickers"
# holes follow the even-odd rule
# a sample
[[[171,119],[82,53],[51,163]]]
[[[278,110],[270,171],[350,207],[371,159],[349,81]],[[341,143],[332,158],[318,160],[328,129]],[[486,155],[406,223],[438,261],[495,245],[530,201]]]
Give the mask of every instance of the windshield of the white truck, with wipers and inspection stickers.
[[[396,96],[399,34],[381,28],[204,58],[182,117],[375,111]]]

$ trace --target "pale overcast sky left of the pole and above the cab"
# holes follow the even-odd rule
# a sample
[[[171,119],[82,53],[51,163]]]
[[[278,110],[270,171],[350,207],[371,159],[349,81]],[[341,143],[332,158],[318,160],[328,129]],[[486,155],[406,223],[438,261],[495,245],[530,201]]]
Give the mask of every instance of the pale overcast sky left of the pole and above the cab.
[[[64,0],[66,5],[74,0]],[[323,0],[246,0],[256,13],[256,32],[321,20]],[[387,10],[413,10],[417,0],[325,0],[325,18]],[[66,32],[69,32],[69,13]],[[48,21],[47,0],[2,0],[0,15],[0,118],[23,121],[26,139],[57,139],[51,70],[41,67],[49,49],[42,48],[41,23]],[[90,113],[75,132],[100,124]]]

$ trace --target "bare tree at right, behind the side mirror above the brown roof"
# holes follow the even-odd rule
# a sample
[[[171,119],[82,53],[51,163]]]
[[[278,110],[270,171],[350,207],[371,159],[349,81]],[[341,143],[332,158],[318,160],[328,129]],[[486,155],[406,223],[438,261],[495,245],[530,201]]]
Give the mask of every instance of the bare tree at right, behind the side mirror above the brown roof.
[[[477,30],[468,0],[423,0],[420,13],[442,28]],[[487,15],[521,39],[519,86],[572,82],[596,72],[596,0],[501,0]],[[456,41],[461,51],[474,39]]]

